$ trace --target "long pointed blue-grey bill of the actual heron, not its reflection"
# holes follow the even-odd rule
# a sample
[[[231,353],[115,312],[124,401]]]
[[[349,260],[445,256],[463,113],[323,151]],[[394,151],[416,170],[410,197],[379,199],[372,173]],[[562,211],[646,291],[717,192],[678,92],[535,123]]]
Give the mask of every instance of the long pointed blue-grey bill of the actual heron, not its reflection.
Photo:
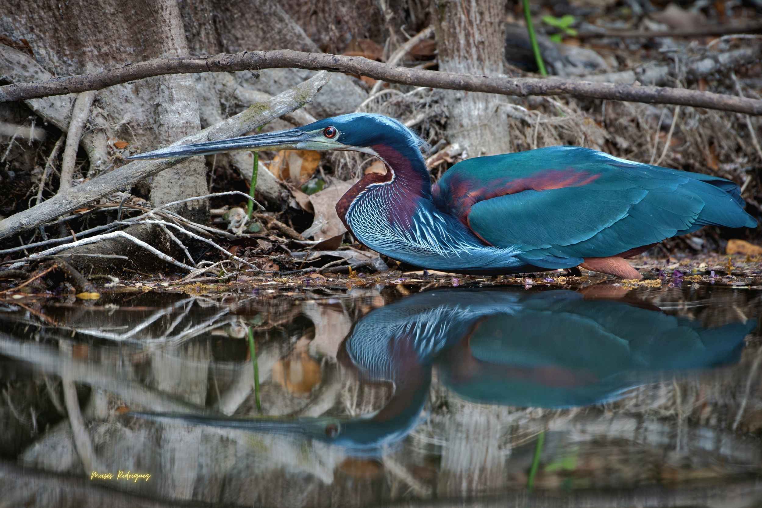
[[[194,155],[212,155],[220,152],[251,152],[258,150],[294,150],[301,142],[309,142],[312,133],[301,129],[279,130],[274,133],[241,136],[239,138],[207,141],[192,145],[173,145],[163,149],[143,152],[127,157],[128,160],[149,158],[192,157]]]

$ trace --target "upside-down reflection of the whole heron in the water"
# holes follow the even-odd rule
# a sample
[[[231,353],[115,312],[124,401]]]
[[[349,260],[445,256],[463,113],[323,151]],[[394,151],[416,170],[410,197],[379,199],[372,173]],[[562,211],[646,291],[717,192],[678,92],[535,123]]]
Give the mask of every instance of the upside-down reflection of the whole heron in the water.
[[[444,289],[360,318],[338,357],[365,382],[389,382],[380,411],[334,417],[235,418],[132,413],[152,420],[280,433],[373,453],[399,443],[421,419],[432,369],[462,398],[483,404],[578,407],[610,401],[664,372],[737,363],[745,323],[704,327],[645,302],[588,299],[572,291]]]

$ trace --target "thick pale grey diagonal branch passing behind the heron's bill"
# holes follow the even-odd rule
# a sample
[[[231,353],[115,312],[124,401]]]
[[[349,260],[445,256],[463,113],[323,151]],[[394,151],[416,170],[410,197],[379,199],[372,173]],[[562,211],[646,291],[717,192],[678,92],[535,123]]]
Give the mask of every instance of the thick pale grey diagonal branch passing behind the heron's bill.
[[[191,134],[191,136],[179,139],[173,145],[187,145],[189,143],[241,136],[258,126],[271,122],[285,113],[290,113],[302,107],[311,101],[312,97],[327,82],[328,75],[321,72],[300,85],[284,91],[282,94],[278,94],[271,101],[254,104],[248,110],[234,117],[207,127],[198,133]],[[28,228],[36,228],[38,225],[72,212],[87,203],[99,200],[101,197],[107,196],[117,190],[129,189],[144,178],[178,165],[185,159],[134,161],[110,173],[100,174],[98,177],[94,177],[82,185],[73,187],[66,193],[58,193],[50,198],[50,200],[43,201],[43,203],[32,206],[23,212],[18,212],[14,216],[3,220],[0,222],[0,238],[18,235],[19,232]],[[191,270],[193,269],[191,268]]]

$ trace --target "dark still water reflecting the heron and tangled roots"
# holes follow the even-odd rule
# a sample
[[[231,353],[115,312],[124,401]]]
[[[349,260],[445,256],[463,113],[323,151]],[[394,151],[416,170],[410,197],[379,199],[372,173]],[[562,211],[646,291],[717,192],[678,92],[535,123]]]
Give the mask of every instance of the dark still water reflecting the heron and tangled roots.
[[[762,497],[759,290],[266,287],[3,305],[0,506]]]

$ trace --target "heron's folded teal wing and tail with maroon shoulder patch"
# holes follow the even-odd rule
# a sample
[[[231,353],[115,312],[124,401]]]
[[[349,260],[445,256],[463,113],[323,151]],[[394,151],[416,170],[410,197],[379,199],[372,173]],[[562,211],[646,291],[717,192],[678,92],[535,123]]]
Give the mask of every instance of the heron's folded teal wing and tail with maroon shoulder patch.
[[[704,225],[757,225],[732,181],[568,146],[467,159],[440,179],[434,203],[488,244],[515,245],[548,268]]]

